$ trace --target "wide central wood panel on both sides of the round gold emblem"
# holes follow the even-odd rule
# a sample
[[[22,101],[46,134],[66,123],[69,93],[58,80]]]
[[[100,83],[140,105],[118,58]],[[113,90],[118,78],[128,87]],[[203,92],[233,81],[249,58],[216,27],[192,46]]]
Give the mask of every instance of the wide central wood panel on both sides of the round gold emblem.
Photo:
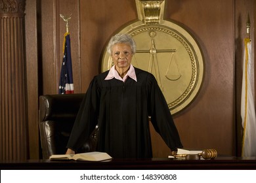
[[[220,154],[234,154],[233,3],[168,1],[165,8],[165,18],[184,25],[205,56],[202,90],[192,105],[174,116],[186,148],[216,148]],[[86,50],[81,52],[83,91],[98,72],[98,53],[106,40],[136,18],[135,1],[81,1],[81,50]],[[169,150],[154,130],[152,141],[154,156],[167,156]]]

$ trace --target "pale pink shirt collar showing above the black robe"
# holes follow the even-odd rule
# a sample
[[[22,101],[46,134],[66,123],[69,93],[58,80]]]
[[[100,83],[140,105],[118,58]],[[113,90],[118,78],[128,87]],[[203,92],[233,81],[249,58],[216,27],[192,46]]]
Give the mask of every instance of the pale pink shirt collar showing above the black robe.
[[[135,73],[135,69],[134,69],[133,65],[130,64],[130,69],[128,70],[128,72],[126,73],[126,75],[123,78],[121,78],[121,76],[118,75],[118,73],[115,69],[115,65],[113,65],[111,67],[110,71],[108,72],[108,75],[106,76],[105,80],[111,80],[112,78],[116,78],[117,80],[121,80],[121,81],[125,82],[125,80],[127,80],[128,76],[137,82],[137,77],[136,77],[136,73]]]

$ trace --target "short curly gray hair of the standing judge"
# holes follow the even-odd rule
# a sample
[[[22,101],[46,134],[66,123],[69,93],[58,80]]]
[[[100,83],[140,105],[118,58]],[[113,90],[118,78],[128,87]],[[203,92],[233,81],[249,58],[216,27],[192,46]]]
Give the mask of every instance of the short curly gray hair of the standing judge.
[[[110,39],[110,42],[108,42],[107,52],[110,55],[112,54],[112,46],[114,46],[114,44],[117,44],[117,43],[128,43],[131,46],[132,54],[136,53],[136,43],[131,37],[131,35],[119,33],[117,35],[114,35]]]

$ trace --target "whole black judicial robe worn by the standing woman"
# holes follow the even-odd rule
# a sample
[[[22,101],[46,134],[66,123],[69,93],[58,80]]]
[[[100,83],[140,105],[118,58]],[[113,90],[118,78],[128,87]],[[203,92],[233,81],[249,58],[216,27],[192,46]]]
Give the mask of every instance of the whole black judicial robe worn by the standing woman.
[[[77,150],[98,124],[97,151],[113,158],[152,158],[148,116],[171,148],[181,148],[179,133],[156,78],[135,68],[137,82],[95,76],[81,103],[67,148]]]

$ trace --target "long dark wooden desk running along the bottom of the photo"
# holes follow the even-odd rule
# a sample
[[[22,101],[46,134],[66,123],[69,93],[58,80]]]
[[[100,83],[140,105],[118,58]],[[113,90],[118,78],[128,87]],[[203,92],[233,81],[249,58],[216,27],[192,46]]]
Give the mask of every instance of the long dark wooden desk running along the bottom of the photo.
[[[256,158],[217,157],[215,159],[112,159],[107,162],[28,159],[1,161],[0,169],[256,169]]]

